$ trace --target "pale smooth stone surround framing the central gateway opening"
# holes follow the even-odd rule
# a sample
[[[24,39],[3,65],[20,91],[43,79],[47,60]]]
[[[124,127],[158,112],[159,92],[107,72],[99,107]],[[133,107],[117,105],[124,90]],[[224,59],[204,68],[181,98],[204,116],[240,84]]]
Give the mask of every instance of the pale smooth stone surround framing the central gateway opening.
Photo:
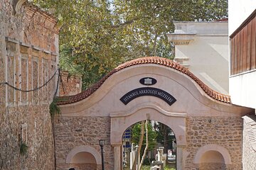
[[[176,135],[176,166],[183,167],[183,148],[186,147],[186,113],[170,113],[157,105],[146,103],[127,113],[113,113],[111,117],[110,142],[114,147],[114,169],[121,169],[122,135],[130,125],[142,120],[164,123]]]

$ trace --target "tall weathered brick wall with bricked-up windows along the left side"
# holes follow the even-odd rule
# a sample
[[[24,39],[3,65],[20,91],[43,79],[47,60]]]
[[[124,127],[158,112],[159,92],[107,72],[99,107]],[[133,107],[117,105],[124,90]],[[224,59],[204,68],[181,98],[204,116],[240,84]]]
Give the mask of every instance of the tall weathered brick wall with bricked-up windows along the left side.
[[[53,169],[49,104],[58,68],[58,28],[53,16],[25,2],[0,3],[0,169]],[[20,154],[21,141],[28,151]]]

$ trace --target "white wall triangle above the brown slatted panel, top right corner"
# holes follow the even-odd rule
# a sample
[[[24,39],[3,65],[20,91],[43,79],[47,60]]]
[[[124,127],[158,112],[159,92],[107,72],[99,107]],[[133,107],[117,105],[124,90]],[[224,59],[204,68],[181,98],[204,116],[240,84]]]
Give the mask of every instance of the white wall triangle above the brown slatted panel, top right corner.
[[[256,0],[228,1],[228,34],[231,35],[256,8]]]

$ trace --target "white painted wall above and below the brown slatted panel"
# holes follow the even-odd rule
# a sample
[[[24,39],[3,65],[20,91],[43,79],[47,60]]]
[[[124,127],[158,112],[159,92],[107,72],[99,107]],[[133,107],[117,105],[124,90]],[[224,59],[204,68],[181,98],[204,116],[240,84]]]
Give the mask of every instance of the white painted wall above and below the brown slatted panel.
[[[228,30],[229,35],[255,11],[256,0],[228,1]],[[256,108],[256,70],[230,77],[230,96],[234,104]]]

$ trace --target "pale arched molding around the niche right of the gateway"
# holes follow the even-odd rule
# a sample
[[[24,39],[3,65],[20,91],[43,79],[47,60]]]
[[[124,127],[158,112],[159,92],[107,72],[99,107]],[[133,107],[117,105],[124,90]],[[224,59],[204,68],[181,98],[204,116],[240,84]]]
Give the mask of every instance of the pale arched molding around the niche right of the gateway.
[[[196,156],[193,159],[193,163],[200,164],[201,157],[203,156],[203,154],[205,154],[208,151],[220,152],[220,154],[222,154],[222,156],[224,158],[225,164],[232,164],[228,149],[225,149],[225,147],[221,147],[219,145],[214,145],[214,144],[213,145],[205,145],[205,146],[201,147],[200,149],[198,149],[198,152],[196,152]]]

